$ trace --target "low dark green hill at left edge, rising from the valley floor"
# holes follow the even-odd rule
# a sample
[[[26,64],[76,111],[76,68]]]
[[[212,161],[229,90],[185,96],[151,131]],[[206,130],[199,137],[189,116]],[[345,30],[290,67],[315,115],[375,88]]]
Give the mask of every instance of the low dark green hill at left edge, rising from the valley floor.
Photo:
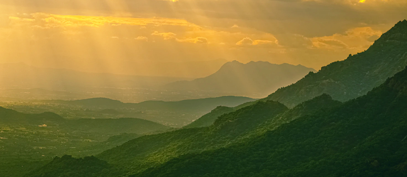
[[[7,127],[59,127],[60,129],[72,129],[95,133],[117,135],[120,133],[153,133],[165,131],[170,127],[156,122],[139,118],[116,118],[116,119],[64,119],[61,116],[44,112],[42,114],[23,114],[12,109],[0,107],[0,125]]]

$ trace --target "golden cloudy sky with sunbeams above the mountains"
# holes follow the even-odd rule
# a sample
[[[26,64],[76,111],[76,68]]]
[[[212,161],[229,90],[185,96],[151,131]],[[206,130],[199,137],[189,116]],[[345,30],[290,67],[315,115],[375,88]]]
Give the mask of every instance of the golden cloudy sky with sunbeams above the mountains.
[[[406,18],[407,0],[0,0],[0,63],[190,78],[233,60],[319,70]]]

